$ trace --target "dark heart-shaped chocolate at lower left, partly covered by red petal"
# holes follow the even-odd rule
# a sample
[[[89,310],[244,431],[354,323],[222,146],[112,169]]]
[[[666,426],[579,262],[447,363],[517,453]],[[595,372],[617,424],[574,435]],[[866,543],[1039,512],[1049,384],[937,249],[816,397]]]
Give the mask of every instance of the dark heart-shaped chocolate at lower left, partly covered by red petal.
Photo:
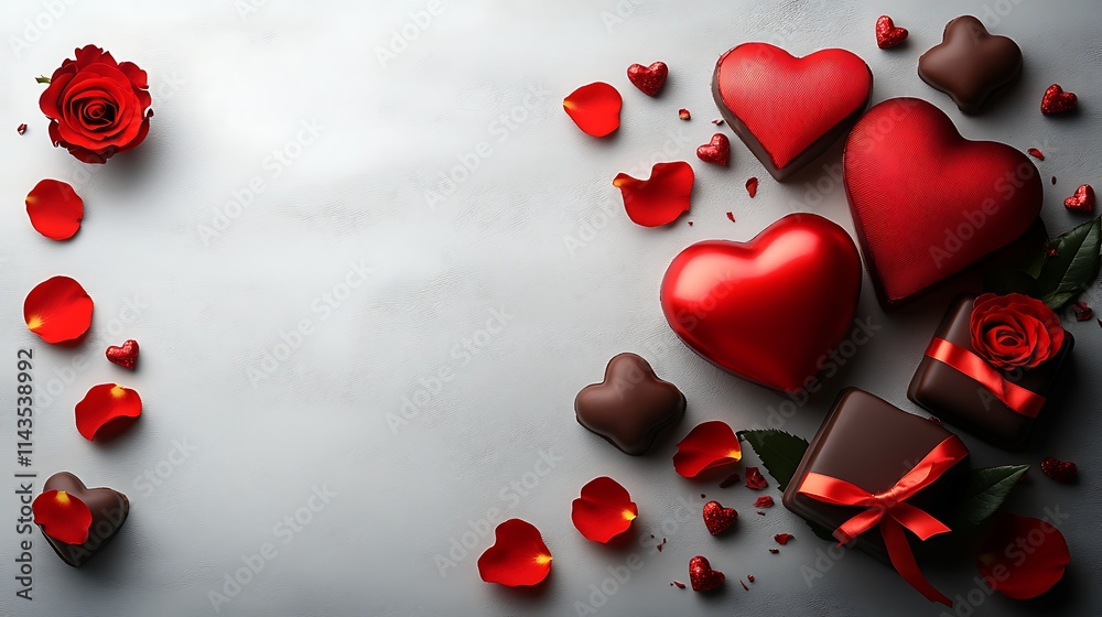
[[[43,492],[63,490],[84,501],[91,510],[91,526],[88,528],[88,540],[84,544],[67,544],[51,538],[46,534],[45,529],[41,524],[39,526],[46,542],[53,546],[57,556],[75,567],[88,561],[111,538],[115,538],[130,513],[130,500],[127,499],[126,495],[110,488],[88,488],[80,481],[80,478],[68,472],[60,472],[50,476],[42,490]]]

